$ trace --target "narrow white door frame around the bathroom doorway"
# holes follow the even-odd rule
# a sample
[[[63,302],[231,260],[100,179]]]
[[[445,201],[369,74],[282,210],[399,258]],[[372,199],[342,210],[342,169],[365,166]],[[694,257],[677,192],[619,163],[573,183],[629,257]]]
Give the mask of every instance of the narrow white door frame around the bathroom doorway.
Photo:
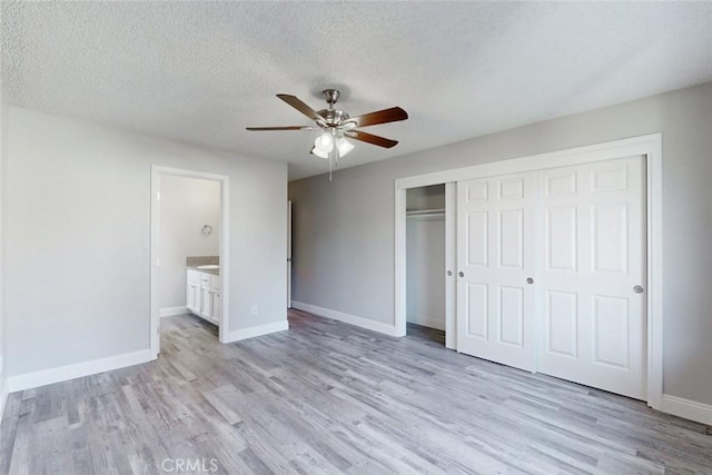
[[[150,327],[149,342],[150,352],[154,357],[158,357],[160,350],[160,309],[158,308],[158,256],[160,249],[160,177],[177,176],[184,178],[199,178],[204,180],[214,180],[220,182],[220,326],[219,340],[228,343],[229,335],[229,305],[230,305],[230,200],[229,187],[230,178],[226,175],[208,174],[205,171],[186,170],[181,168],[161,167],[151,165],[151,243],[150,243]]]

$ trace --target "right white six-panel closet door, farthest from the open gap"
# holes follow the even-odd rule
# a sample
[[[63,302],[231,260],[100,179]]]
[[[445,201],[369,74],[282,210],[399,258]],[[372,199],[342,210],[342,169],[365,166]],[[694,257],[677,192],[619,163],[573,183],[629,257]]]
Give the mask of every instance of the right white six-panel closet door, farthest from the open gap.
[[[538,172],[540,372],[645,398],[643,157]]]

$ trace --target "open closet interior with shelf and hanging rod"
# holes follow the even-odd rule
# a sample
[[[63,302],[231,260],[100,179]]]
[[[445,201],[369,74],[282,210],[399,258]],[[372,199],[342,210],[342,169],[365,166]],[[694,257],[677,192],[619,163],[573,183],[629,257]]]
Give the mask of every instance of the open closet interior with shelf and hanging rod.
[[[445,185],[406,194],[406,319],[445,331]]]

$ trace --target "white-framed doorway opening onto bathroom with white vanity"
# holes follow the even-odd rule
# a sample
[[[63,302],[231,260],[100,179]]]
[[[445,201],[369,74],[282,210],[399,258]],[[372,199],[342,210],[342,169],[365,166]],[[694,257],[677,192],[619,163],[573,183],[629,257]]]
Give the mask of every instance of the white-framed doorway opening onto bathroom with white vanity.
[[[165,317],[199,325],[220,343],[228,335],[228,186],[222,175],[151,168],[149,340],[156,356]]]

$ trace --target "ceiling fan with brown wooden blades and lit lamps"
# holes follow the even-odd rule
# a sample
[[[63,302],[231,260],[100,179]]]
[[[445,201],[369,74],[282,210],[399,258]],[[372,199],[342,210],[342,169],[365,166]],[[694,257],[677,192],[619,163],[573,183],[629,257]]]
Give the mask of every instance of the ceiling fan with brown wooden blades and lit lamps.
[[[300,99],[289,95],[277,95],[277,97],[299,112],[316,122],[316,126],[285,126],[285,127],[247,127],[250,131],[275,131],[275,130],[322,130],[323,132],[314,141],[314,147],[309,151],[322,158],[338,160],[354,149],[354,145],[347,138],[373,144],[378,147],[392,148],[398,144],[396,140],[385,137],[374,136],[362,130],[359,127],[376,126],[378,123],[396,122],[408,118],[408,113],[399,107],[364,113],[363,116],[349,117],[343,110],[335,109],[334,105],[338,100],[339,92],[336,89],[323,91],[324,99],[328,103],[327,109],[316,111],[304,103]]]

